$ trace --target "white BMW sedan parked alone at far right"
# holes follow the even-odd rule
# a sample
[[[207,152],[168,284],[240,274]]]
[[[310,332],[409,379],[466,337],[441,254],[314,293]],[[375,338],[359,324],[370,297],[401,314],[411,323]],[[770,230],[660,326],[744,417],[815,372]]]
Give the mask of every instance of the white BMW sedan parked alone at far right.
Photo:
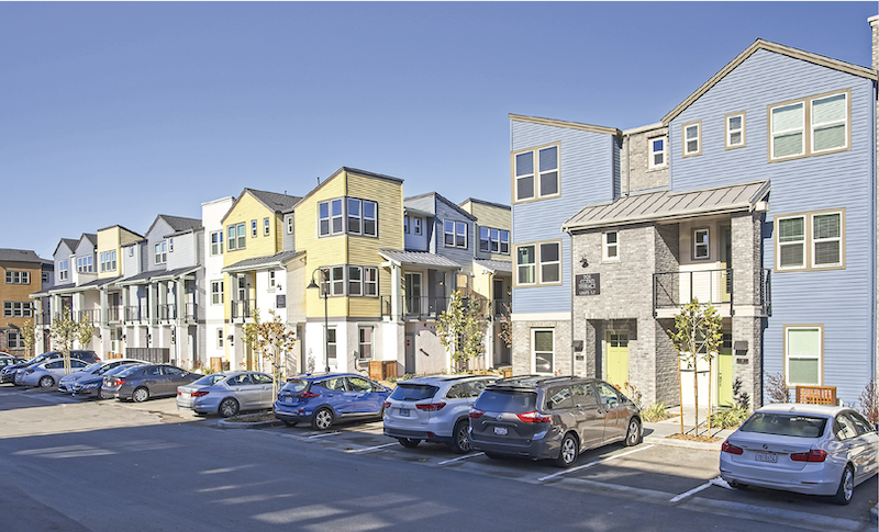
[[[879,434],[845,407],[781,403],[755,411],[721,452],[732,487],[760,486],[852,501],[855,486],[877,473]]]

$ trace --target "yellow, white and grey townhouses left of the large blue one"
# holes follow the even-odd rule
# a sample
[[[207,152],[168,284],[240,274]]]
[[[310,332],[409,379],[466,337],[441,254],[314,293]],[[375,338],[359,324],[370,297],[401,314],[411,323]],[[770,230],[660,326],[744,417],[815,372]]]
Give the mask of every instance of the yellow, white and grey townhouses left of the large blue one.
[[[401,179],[343,167],[304,196],[244,189],[202,204],[200,219],[158,215],[143,235],[116,225],[63,238],[55,279],[26,314],[44,350],[66,308],[94,326],[86,347],[102,356],[265,370],[244,331],[274,313],[298,340],[288,372],[376,361],[397,375],[450,370],[436,318],[459,291],[488,310],[486,354],[471,367],[509,365],[499,318],[512,294],[510,213],[404,197]]]

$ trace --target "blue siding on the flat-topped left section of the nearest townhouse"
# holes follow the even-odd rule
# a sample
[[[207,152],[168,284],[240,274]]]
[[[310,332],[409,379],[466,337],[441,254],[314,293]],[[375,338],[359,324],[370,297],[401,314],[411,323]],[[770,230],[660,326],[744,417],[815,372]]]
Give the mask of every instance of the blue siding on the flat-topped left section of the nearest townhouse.
[[[612,135],[513,121],[512,150],[559,143],[560,196],[514,204],[514,242],[561,240],[561,284],[518,288],[513,292],[516,314],[570,312],[570,238],[561,224],[583,206],[612,200],[615,140]],[[511,169],[512,176],[512,169]],[[515,263],[515,247],[512,254]],[[513,264],[515,279],[515,264]]]

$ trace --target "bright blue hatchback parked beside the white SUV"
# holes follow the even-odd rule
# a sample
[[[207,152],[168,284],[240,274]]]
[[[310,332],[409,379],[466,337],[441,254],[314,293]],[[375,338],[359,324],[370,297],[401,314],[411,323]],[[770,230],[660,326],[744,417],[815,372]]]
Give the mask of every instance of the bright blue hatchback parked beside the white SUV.
[[[356,373],[299,375],[278,392],[275,417],[288,427],[310,421],[315,430],[326,430],[340,419],[381,419],[390,393]]]

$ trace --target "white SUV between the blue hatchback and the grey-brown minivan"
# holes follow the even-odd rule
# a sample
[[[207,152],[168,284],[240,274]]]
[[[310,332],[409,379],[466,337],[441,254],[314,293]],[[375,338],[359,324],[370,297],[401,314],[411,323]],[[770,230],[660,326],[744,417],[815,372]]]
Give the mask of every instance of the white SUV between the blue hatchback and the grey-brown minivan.
[[[398,382],[385,401],[385,435],[397,438],[404,448],[425,440],[447,443],[456,453],[469,452],[470,407],[497,378],[432,375]]]

